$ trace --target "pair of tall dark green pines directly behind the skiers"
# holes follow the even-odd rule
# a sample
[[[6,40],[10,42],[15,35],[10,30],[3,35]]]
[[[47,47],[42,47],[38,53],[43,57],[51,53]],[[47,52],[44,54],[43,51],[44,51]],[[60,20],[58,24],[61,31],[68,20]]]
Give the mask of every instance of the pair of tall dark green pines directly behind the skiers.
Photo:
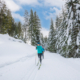
[[[31,10],[28,32],[33,46],[36,46],[37,42],[40,42],[40,28],[40,19],[36,12],[33,14],[33,11]]]

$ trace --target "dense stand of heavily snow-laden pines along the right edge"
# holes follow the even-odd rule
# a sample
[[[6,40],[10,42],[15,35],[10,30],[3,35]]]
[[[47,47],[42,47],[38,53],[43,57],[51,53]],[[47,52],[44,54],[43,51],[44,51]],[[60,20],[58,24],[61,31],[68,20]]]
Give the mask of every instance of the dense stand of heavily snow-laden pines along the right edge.
[[[68,14],[68,15],[66,15]],[[65,57],[80,57],[80,4],[78,0],[67,1],[67,13],[59,24],[56,18],[56,48]],[[66,17],[65,17],[66,16]]]

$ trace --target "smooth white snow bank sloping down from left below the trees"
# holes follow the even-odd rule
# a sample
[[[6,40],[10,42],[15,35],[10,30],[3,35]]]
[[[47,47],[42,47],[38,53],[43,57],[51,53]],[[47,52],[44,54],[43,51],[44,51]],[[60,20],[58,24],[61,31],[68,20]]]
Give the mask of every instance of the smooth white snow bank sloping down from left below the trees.
[[[0,67],[19,61],[23,57],[34,55],[35,47],[14,39],[8,34],[0,34]]]

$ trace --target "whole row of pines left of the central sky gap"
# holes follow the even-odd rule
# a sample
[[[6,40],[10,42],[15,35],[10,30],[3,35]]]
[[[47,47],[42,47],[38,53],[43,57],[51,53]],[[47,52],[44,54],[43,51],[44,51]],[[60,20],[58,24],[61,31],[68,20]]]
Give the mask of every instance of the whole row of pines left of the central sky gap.
[[[24,23],[15,22],[5,2],[0,0],[0,34],[9,34],[25,43],[30,40],[31,45],[36,46],[37,42],[42,44],[43,34],[40,30],[41,23],[36,11],[31,10],[28,14],[25,10]]]

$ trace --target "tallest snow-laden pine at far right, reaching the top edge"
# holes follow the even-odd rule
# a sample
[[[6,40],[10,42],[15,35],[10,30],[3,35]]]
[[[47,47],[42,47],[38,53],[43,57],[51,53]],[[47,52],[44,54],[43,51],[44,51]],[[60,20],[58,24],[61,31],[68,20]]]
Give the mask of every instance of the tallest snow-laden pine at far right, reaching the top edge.
[[[80,27],[80,10],[78,10],[79,0],[68,0],[67,1],[67,9],[68,9],[68,57],[77,57],[78,52],[78,44],[77,44],[77,36],[79,34]]]

